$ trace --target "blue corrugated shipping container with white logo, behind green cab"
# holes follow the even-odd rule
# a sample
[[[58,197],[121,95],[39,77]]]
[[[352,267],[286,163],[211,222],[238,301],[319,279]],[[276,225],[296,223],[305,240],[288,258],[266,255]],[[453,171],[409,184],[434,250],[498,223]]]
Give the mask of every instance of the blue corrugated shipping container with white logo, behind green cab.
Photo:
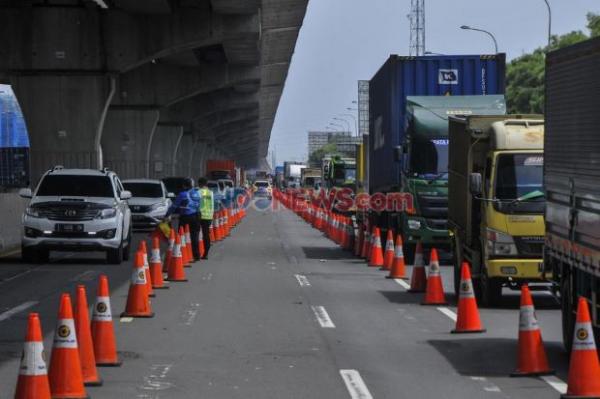
[[[504,94],[505,55],[392,55],[369,84],[369,186],[400,183],[394,148],[404,142],[407,96]]]

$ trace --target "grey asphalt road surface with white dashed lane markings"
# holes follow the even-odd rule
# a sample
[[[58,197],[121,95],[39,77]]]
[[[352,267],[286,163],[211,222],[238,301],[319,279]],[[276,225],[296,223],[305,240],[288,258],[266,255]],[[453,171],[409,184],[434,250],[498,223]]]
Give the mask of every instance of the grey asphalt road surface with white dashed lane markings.
[[[138,234],[137,239],[144,235]],[[41,314],[46,352],[61,292],[109,276],[113,315],[131,264],[65,254],[44,265],[0,260],[0,398],[11,398],[29,311]],[[535,293],[551,378],[510,378],[516,367],[518,293],[481,309],[487,333],[451,335],[455,299],[443,267],[445,308],[384,278],[292,212],[249,211],[189,282],[156,292],[156,316],[115,319],[120,368],[100,368],[93,398],[553,398],[568,358],[560,311]],[[410,268],[408,270],[410,273]]]

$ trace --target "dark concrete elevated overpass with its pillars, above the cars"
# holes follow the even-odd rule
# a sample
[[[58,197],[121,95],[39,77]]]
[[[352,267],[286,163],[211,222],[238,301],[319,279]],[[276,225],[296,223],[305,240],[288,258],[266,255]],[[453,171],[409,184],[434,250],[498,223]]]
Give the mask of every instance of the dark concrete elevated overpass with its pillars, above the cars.
[[[308,0],[0,0],[0,80],[53,165],[198,176],[265,162]]]

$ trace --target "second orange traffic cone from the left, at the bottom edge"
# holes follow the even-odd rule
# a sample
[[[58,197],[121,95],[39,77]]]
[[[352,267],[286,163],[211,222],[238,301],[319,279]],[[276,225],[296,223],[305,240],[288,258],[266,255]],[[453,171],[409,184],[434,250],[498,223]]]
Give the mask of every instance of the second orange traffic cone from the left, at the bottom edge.
[[[71,296],[62,294],[48,368],[52,398],[87,398],[83,386]]]

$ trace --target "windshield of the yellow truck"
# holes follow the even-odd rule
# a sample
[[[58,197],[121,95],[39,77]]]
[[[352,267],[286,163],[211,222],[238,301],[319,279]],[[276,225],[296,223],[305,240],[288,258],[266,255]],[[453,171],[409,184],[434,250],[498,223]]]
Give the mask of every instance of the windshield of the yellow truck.
[[[502,201],[502,211],[543,211],[545,198],[542,154],[501,154],[498,156],[496,169],[494,191],[495,197]]]

